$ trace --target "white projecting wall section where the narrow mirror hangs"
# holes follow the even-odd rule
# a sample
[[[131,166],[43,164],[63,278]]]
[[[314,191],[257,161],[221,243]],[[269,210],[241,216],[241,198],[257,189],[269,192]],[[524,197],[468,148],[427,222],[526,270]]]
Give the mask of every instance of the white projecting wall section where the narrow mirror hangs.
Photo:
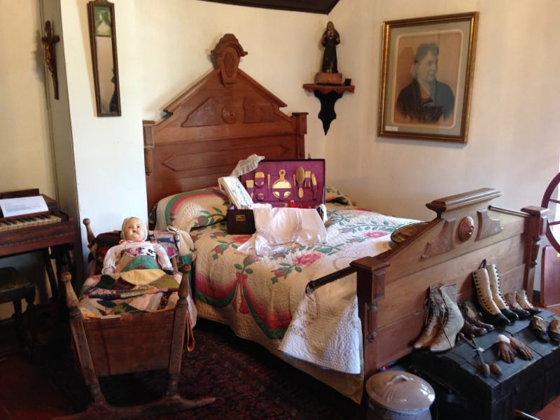
[[[115,8],[123,115],[104,118],[95,106],[87,1],[60,4],[80,219],[90,218],[97,232],[120,228],[125,216],[146,221],[134,1],[116,1]]]

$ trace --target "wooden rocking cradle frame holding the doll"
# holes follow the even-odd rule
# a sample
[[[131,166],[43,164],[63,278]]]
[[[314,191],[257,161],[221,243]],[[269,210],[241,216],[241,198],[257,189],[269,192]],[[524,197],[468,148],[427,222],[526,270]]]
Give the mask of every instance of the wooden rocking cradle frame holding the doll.
[[[95,236],[89,219],[85,219],[84,224],[91,246]],[[174,267],[176,265],[174,261]],[[90,275],[99,272],[97,255],[94,255]],[[65,416],[65,419],[136,419],[152,414],[183,412],[214,402],[215,398],[190,400],[179,395],[183,351],[188,345],[186,343],[193,339],[188,327],[189,272],[190,265],[183,264],[179,300],[174,309],[106,318],[85,318],[78,308],[71,275],[67,272],[62,274],[70,311],[74,356],[92,397],[85,412]],[[148,370],[168,371],[167,391],[162,398],[124,407],[116,407],[106,401],[98,377]]]

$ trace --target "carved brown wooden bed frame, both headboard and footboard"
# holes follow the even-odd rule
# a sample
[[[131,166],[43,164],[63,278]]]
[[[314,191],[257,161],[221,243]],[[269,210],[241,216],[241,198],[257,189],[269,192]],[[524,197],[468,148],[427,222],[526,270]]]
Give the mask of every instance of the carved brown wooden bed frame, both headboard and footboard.
[[[246,54],[226,34],[212,51],[216,69],[165,107],[167,118],[144,121],[148,210],[168,195],[216,186],[253,153],[304,158],[307,113],[284,115],[286,105],[239,69]],[[357,273],[364,382],[412,351],[430,285],[456,284],[458,302],[471,299],[471,272],[486,259],[499,267],[503,293],[532,295],[547,210],[493,207],[500,194],[480,188],[429,202],[435,217],[414,236],[328,276]]]

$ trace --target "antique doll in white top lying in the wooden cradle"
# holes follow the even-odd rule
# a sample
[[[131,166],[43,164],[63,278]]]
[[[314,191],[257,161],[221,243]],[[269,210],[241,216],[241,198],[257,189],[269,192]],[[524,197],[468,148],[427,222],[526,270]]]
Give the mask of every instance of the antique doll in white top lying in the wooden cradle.
[[[109,248],[103,262],[103,274],[127,271],[141,265],[142,268],[173,270],[165,248],[160,244],[146,241],[146,225],[137,217],[125,218],[120,230],[122,238],[118,245]],[[130,265],[136,260],[136,265]]]

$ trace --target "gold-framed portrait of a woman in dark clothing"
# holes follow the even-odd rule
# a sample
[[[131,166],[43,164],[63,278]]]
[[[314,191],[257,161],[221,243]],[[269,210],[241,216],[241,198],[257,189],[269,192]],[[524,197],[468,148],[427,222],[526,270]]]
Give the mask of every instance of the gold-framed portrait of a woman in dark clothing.
[[[380,137],[466,143],[478,12],[383,24]]]

